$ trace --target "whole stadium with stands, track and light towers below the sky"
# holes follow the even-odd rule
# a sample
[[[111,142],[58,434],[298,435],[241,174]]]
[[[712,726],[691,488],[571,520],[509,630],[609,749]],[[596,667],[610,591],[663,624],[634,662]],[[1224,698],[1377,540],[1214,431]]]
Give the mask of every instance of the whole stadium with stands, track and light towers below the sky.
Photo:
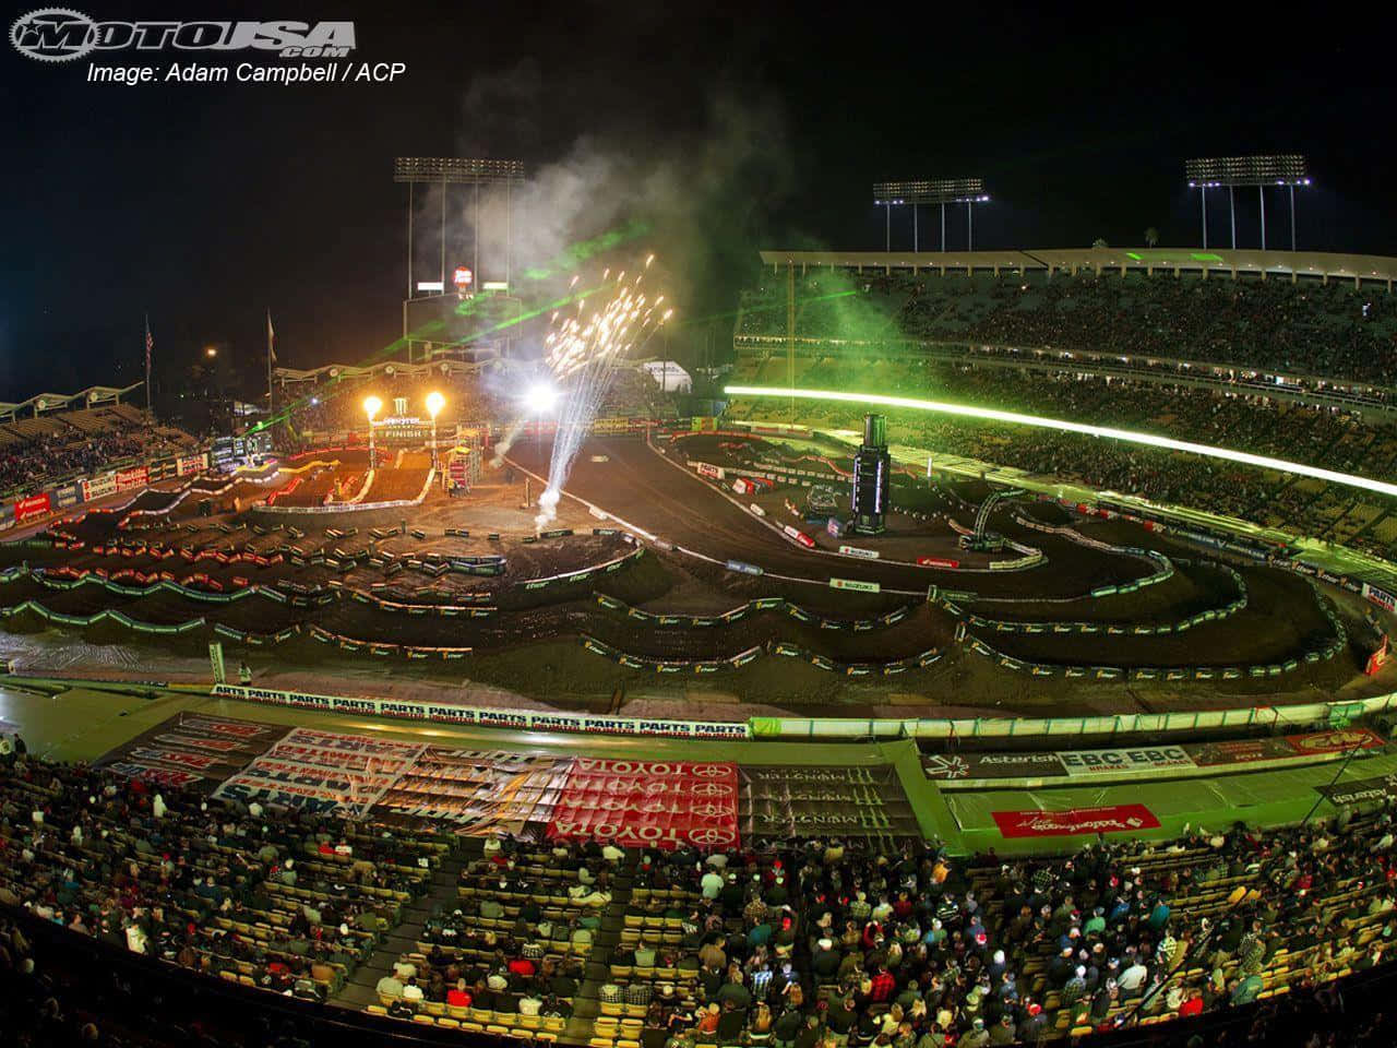
[[[400,157],[401,337],[0,404],[7,1042],[1394,1042],[1397,259],[1305,163],[1189,161],[1260,249],[879,183],[687,316]]]

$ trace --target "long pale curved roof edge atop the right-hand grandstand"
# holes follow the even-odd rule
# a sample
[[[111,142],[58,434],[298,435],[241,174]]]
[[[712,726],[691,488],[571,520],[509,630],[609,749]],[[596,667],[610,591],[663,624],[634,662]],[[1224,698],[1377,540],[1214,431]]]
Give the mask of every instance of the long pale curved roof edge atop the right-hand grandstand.
[[[1055,247],[996,252],[761,252],[767,265],[835,265],[840,268],[950,270],[1189,270],[1227,275],[1266,272],[1329,279],[1397,279],[1397,259],[1382,254],[1326,252],[1228,252],[1190,247]]]

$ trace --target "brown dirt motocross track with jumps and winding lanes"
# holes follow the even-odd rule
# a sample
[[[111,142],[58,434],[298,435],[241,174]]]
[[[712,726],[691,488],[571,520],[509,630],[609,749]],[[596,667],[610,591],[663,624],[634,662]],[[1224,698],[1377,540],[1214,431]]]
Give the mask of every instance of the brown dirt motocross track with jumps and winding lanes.
[[[597,520],[569,499],[560,507],[559,527],[576,534],[535,539],[534,510],[522,497],[525,478],[510,478],[503,470],[488,471],[485,482],[464,499],[433,488],[420,506],[328,516],[270,514],[256,507],[196,516],[198,495],[176,504],[176,492],[149,490],[122,514],[92,513],[50,528],[60,541],[75,539],[81,548],[4,548],[0,567],[28,563],[36,569],[13,572],[0,585],[0,605],[11,612],[6,627],[32,633],[57,625],[89,641],[182,654],[201,651],[221,636],[235,655],[314,667],[326,676],[338,665],[379,658],[394,667],[394,675],[451,681],[465,674],[560,706],[595,704],[598,696],[610,696],[617,687],[692,689],[701,682],[705,694],[802,711],[855,713],[888,704],[930,711],[949,701],[999,711],[1011,704],[1024,711],[1066,713],[1207,706],[1236,693],[1266,694],[1268,701],[1291,693],[1312,699],[1313,687],[1336,690],[1355,676],[1356,654],[1345,650],[1320,664],[1301,665],[1282,679],[1260,682],[1190,681],[1164,687],[1031,678],[957,643],[964,615],[1000,622],[1160,623],[1222,608],[1236,599],[1238,588],[1227,570],[1199,551],[1140,528],[1125,530],[1125,524],[1017,503],[999,509],[992,527],[1042,552],[1045,563],[1024,570],[988,567],[989,560],[1020,556],[1011,549],[965,556],[975,567],[970,572],[814,552],[768,527],[795,525],[795,517],[782,520],[782,511],[774,509],[759,518],[743,509],[753,499],[701,481],[685,465],[689,457],[721,457],[724,449],[715,442],[662,446],[664,456],[636,439],[590,442],[567,482],[569,493],[659,539],[643,538],[640,544],[624,534],[592,534],[594,527],[602,532],[623,528]],[[549,450],[529,442],[511,458],[521,470],[545,474]],[[770,451],[760,446],[728,449],[739,470],[743,457],[750,463],[753,454]],[[362,474],[363,464],[338,468]],[[847,485],[833,470],[830,478],[831,486]],[[207,490],[225,483],[200,479],[196,486]],[[264,497],[285,483],[285,476],[243,481],[219,496],[219,504],[232,509],[235,492]],[[536,496],[539,485],[531,486]],[[916,513],[894,516],[894,534],[884,544],[888,556],[922,546],[954,556],[950,521],[974,524],[971,499],[983,496],[974,483],[932,490],[925,483],[902,482],[895,490],[901,495],[894,497]],[[778,485],[763,497],[780,504],[787,497],[803,499],[805,489]],[[133,510],[147,513],[131,516]],[[1087,542],[1045,534],[1020,518],[1067,524]],[[119,521],[126,527],[119,528]],[[447,535],[447,528],[467,530],[469,537]],[[490,532],[497,537],[490,538]],[[879,542],[856,541],[861,546]],[[678,549],[668,549],[668,544]],[[1090,597],[1092,590],[1160,572],[1161,558],[1125,552],[1119,549],[1123,545],[1172,558],[1171,576],[1137,592]],[[469,559],[499,559],[503,567],[492,576],[441,569]],[[760,566],[764,574],[729,570],[728,560]],[[1248,605],[1225,622],[1196,627],[1186,639],[1104,632],[1024,636],[977,627],[968,640],[983,637],[997,651],[1044,662],[1090,658],[1125,668],[1168,668],[1239,664],[1253,655],[1298,658],[1305,644],[1331,629],[1302,580],[1267,567],[1235,570],[1246,580]],[[96,572],[117,584],[106,585]],[[555,578],[576,572],[587,574]],[[147,591],[162,573],[176,585]],[[87,581],[74,584],[84,576]],[[831,576],[877,583],[883,592],[834,590]],[[929,605],[930,585],[960,591],[961,611]],[[249,588],[249,595],[221,599]],[[778,606],[743,609],[747,601]],[[27,602],[80,620],[115,611],[155,627],[193,619],[204,623],[179,634],[133,633],[112,619],[87,626],[56,623]],[[448,611],[453,608],[457,611]],[[232,633],[215,633],[215,626]],[[249,636],[239,641],[237,634]],[[599,647],[584,647],[585,639]],[[447,650],[455,653],[450,661],[443,654]],[[601,650],[616,654],[597,654]],[[711,676],[696,678],[686,668],[745,651],[757,654],[740,667],[704,671]],[[657,664],[678,669],[661,671]]]

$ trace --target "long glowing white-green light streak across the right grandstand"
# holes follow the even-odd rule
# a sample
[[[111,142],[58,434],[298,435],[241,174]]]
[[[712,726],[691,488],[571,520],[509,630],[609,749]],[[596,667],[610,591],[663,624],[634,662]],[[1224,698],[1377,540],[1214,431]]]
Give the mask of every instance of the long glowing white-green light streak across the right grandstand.
[[[1313,476],[1317,481],[1343,483],[1350,488],[1363,488],[1380,495],[1397,496],[1397,483],[1384,483],[1368,476],[1341,474],[1333,470],[1320,470],[1317,465],[1303,463],[1288,463],[1284,458],[1270,458],[1268,456],[1255,456],[1249,451],[1234,451],[1228,447],[1211,447],[1196,444],[1192,440],[1175,440],[1155,433],[1137,433],[1130,429],[1113,429],[1111,426],[1091,426],[1085,422],[1067,422],[1058,418],[1041,418],[1038,415],[1020,415],[1014,411],[997,411],[996,408],[974,408],[965,404],[946,404],[935,400],[916,400],[914,397],[887,397],[879,393],[841,393],[838,390],[789,390],[774,386],[728,386],[724,388],[729,397],[799,397],[800,400],[826,400],[841,404],[870,404],[884,408],[907,408],[909,411],[936,411],[943,415],[960,415],[961,418],[978,418],[988,422],[1007,422],[1018,426],[1037,426],[1039,429],[1056,429],[1063,433],[1083,433],[1085,436],[1106,437],[1108,440],[1123,440],[1132,444],[1146,444],[1147,447],[1161,447],[1166,451],[1186,451],[1189,454],[1206,456],[1207,458],[1221,458],[1228,463],[1255,465],[1261,470],[1278,470],[1281,472]]]

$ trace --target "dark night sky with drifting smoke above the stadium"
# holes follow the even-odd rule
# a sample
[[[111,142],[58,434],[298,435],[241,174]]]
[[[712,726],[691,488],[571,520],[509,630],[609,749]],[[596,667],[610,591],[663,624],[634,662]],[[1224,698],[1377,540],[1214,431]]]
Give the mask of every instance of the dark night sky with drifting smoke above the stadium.
[[[256,376],[267,307],[284,363],[381,348],[405,286],[397,155],[525,161],[539,177],[515,212],[520,264],[648,222],[637,250],[664,256],[690,317],[733,307],[759,247],[880,249],[870,183],[888,177],[983,176],[981,247],[1139,245],[1151,225],[1162,245],[1197,245],[1185,158],[1298,151],[1316,180],[1301,247],[1397,253],[1380,7],[923,6],[915,21],[813,3],[74,6],[353,20],[353,61],[408,68],[395,84],[124,87],[87,82],[87,59],[41,64],[6,43],[3,400],[138,379],[145,312],[166,393],[207,344]],[[163,74],[172,57],[98,61]],[[1255,190],[1242,197],[1239,246],[1255,246]],[[419,278],[436,275],[432,207]],[[1280,197],[1267,217],[1280,246]],[[923,212],[923,245],[933,226]],[[453,221],[448,267],[468,245]],[[911,247],[908,218],[893,245]]]

